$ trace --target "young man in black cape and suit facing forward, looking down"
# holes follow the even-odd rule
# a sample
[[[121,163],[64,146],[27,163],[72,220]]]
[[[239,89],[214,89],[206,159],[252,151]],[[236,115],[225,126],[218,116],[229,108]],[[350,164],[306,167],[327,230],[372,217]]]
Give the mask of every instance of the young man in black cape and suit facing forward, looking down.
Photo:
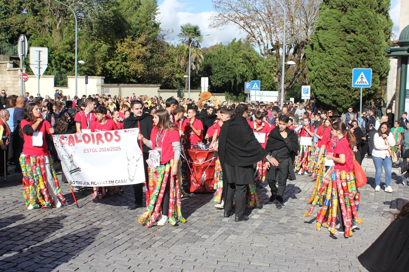
[[[295,180],[293,163],[297,151],[300,148],[297,134],[295,134],[294,130],[287,127],[289,120],[290,117],[287,115],[281,115],[279,117],[279,125],[274,127],[268,135],[267,145],[265,147],[267,154],[279,162],[278,166],[265,162],[265,167],[267,168],[265,178],[268,181],[268,185],[270,185],[272,194],[270,196],[270,202],[275,203],[279,209],[282,208],[287,178],[289,177],[290,181]],[[277,183],[278,188],[276,186]]]

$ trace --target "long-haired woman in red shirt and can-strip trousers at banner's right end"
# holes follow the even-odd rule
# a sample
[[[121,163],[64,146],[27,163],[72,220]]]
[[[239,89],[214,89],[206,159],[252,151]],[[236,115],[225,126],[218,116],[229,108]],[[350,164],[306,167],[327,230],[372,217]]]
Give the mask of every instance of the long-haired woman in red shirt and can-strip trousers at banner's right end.
[[[138,135],[138,140],[152,149],[149,160],[159,161],[159,166],[148,167],[149,181],[147,190],[147,207],[139,217],[139,223],[163,226],[166,223],[174,225],[176,220],[185,222],[181,212],[179,159],[180,159],[180,136],[175,123],[170,121],[166,109],[158,109],[153,116],[154,127],[151,132],[151,140]],[[156,152],[153,152],[156,151]],[[158,154],[159,153],[159,154]],[[176,181],[176,182],[175,182]],[[162,215],[160,210],[162,208]],[[158,219],[158,221],[156,221]]]

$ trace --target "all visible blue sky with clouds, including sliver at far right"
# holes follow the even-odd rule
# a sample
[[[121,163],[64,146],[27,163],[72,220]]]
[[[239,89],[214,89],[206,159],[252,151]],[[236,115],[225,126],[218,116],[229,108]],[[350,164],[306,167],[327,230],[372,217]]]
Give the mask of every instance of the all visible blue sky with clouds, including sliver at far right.
[[[199,25],[206,36],[202,42],[202,47],[208,47],[222,42],[226,44],[233,38],[244,38],[245,34],[235,26],[229,25],[224,29],[209,28],[209,18],[213,11],[211,0],[158,0],[159,12],[157,19],[162,22],[161,27],[168,34],[169,42],[178,42],[177,34],[180,32],[180,25],[190,22]],[[393,20],[392,32],[398,36],[400,0],[391,0],[389,11]]]

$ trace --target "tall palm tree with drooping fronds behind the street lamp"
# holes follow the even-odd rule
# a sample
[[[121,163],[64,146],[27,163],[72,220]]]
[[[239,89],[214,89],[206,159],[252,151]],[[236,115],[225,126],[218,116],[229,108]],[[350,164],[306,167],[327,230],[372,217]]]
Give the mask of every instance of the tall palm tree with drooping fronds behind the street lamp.
[[[189,46],[192,40],[196,37],[202,36],[198,25],[192,25],[190,23],[180,26],[180,44],[178,45],[177,56],[180,61],[180,66],[186,71],[186,75],[189,75]],[[203,38],[198,38],[192,42],[191,46],[191,69],[193,71],[199,71],[199,65],[203,61],[203,54],[200,50],[200,42]],[[188,78],[185,79],[185,89],[188,88]]]

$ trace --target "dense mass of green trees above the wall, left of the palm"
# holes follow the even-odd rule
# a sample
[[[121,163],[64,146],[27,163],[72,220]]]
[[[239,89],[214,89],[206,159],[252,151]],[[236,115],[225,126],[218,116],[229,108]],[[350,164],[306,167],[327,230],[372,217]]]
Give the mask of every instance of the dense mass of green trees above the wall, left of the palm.
[[[69,5],[78,17],[78,59],[85,61],[79,75],[170,89],[182,83],[175,47],[155,18],[156,0],[72,0]],[[48,47],[46,75],[74,74],[75,21],[67,7],[53,0],[0,0],[0,7],[0,43],[17,44],[25,34],[29,46]]]

